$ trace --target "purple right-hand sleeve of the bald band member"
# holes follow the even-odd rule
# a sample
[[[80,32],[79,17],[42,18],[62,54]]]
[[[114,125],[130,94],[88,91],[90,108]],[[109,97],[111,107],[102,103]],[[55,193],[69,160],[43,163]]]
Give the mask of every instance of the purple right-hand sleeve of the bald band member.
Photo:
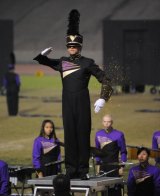
[[[126,162],[127,161],[127,150],[126,150],[126,141],[124,138],[124,134],[122,134],[120,139],[118,140],[118,146],[121,152],[121,161]]]

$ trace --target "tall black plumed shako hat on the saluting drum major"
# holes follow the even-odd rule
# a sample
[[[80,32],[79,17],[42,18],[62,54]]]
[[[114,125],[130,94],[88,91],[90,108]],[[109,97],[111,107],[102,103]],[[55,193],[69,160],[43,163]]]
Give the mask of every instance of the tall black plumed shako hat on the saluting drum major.
[[[69,13],[68,17],[68,30],[66,37],[66,46],[78,46],[82,47],[83,36],[79,34],[79,21],[80,13],[78,10],[73,9]]]

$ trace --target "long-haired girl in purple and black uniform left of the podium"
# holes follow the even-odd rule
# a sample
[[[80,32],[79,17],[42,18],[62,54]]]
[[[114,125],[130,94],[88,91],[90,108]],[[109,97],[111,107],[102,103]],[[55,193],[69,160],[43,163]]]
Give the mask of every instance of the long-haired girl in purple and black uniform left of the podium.
[[[40,134],[34,140],[32,152],[33,166],[39,178],[56,175],[60,171],[60,165],[55,164],[55,161],[61,158],[59,143],[54,123],[51,120],[44,120]]]

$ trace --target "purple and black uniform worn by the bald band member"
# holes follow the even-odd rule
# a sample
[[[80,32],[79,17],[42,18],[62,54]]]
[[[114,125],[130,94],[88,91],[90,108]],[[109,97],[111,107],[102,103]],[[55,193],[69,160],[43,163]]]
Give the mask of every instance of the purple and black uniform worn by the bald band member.
[[[96,133],[95,144],[96,147],[102,149],[103,154],[105,154],[105,157],[96,157],[97,163],[101,164],[100,170],[105,172],[114,170],[114,172],[109,173],[107,176],[119,176],[119,166],[109,165],[108,163],[119,162],[119,152],[121,153],[121,161],[125,162],[127,160],[124,134],[116,129],[112,129],[110,132],[106,132],[102,129]],[[109,189],[108,195],[121,196],[120,185],[116,185],[114,188]]]

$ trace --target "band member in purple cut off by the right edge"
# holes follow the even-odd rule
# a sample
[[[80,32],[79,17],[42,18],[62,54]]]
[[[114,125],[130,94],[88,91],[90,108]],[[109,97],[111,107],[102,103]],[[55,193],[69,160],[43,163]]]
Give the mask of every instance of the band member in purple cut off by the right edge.
[[[160,150],[160,131],[155,131],[152,137],[152,148]],[[155,159],[156,165],[160,166],[160,157]]]

